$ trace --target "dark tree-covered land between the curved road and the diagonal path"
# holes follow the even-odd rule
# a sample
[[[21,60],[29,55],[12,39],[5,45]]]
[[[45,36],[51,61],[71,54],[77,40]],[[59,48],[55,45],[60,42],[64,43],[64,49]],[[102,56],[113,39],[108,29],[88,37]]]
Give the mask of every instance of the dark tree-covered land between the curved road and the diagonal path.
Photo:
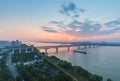
[[[20,81],[22,78],[25,81],[77,81],[47,61],[46,57],[37,49],[31,53],[13,54],[12,62],[20,72]]]

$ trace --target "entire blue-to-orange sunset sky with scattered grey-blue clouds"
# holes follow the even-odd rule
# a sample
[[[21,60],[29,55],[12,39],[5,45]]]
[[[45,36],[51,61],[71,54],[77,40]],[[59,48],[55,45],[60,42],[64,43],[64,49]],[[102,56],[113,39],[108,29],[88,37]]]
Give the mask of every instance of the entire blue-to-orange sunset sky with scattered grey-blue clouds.
[[[120,0],[0,0],[0,40],[120,40]]]

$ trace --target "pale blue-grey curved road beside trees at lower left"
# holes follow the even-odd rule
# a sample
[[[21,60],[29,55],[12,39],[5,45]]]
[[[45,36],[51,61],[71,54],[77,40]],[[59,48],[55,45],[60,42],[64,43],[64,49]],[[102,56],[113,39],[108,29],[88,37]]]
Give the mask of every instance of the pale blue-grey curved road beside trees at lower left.
[[[12,74],[13,78],[16,79],[16,77],[19,75],[18,70],[16,67],[12,64],[12,52],[9,52],[6,58],[6,65]]]

